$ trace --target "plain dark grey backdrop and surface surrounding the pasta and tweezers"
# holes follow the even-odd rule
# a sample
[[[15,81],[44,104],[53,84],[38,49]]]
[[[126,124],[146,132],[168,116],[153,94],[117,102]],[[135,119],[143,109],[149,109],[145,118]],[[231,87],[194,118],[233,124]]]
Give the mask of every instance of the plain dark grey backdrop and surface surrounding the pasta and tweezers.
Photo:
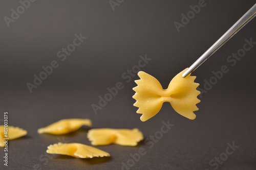
[[[243,48],[244,39],[256,41],[256,19],[194,73],[200,88],[212,71],[227,65],[229,72],[200,98],[197,118],[189,120],[165,103],[161,111],[141,122],[132,99],[134,77],[126,83],[121,75],[137,65],[139,56],[152,60],[142,69],[166,88],[172,78],[190,66],[224,34],[255,1],[208,1],[190,22],[177,32],[190,5],[198,1],[124,1],[112,10],[109,1],[37,1],[8,28],[4,17],[20,6],[18,1],[0,2],[0,119],[9,111],[9,125],[24,128],[28,135],[9,142],[9,166],[1,169],[121,169],[130,154],[145,148],[131,169],[212,169],[209,161],[225,152],[227,143],[240,147],[218,169],[256,169],[255,61],[256,46],[231,66],[226,61]],[[73,42],[74,34],[87,39],[65,61],[56,53]],[[33,92],[42,66],[59,63]],[[96,115],[91,107],[106,88],[122,82],[124,88]],[[97,147],[110,158],[77,159],[49,155],[49,144],[61,140],[89,144],[88,127],[68,135],[37,134],[37,129],[62,118],[90,118],[93,128],[139,128],[144,137],[160,130],[162,121],[175,126],[153,148],[144,141],[138,147]],[[2,124],[2,123],[1,123]],[[64,137],[64,138],[62,138]]]

